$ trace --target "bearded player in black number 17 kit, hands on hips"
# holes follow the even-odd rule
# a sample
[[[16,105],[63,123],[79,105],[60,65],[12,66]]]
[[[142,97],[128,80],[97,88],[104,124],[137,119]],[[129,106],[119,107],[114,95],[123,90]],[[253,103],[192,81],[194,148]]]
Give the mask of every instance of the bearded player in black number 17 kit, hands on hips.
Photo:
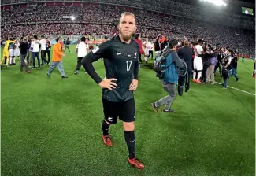
[[[102,121],[102,140],[106,146],[113,146],[109,136],[109,126],[117,124],[117,117],[123,121],[124,138],[128,146],[128,163],[135,168],[143,169],[135,156],[135,101],[133,91],[138,87],[139,46],[132,39],[135,31],[135,16],[132,13],[121,14],[118,30],[119,35],[103,42],[86,57],[82,65],[102,87],[102,103],[105,120]],[[95,72],[92,62],[104,58],[106,78],[102,79]]]

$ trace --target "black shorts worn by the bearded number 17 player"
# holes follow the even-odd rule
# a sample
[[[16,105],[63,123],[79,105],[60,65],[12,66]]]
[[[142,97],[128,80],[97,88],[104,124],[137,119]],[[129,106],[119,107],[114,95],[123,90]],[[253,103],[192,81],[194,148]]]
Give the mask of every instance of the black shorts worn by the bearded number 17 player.
[[[135,121],[134,98],[121,102],[112,102],[102,98],[102,103],[105,120],[109,124],[117,124],[118,117],[123,122]]]

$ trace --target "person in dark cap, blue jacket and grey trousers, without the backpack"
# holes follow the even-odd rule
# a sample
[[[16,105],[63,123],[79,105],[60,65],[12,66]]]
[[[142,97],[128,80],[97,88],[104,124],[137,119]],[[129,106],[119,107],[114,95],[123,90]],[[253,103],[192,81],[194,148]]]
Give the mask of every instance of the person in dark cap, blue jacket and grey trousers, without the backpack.
[[[171,109],[171,105],[173,104],[174,99],[176,98],[176,85],[178,84],[178,71],[177,69],[182,68],[184,65],[180,61],[180,57],[176,53],[178,42],[176,42],[176,39],[172,39],[168,42],[169,46],[166,47],[164,53],[166,51],[170,51],[170,53],[166,56],[166,65],[169,67],[165,70],[165,77],[161,79],[161,84],[164,88],[164,90],[168,93],[167,96],[164,98],[161,98],[158,101],[155,101],[151,103],[154,112],[158,112],[158,108],[161,105],[165,105],[164,112],[173,113],[175,112],[173,109]]]

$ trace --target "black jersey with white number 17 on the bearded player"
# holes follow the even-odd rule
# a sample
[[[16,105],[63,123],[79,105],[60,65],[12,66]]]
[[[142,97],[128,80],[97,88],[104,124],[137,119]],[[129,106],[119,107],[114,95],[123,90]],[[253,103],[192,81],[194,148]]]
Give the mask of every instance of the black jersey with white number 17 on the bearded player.
[[[133,91],[129,86],[133,79],[138,79],[139,73],[139,45],[135,40],[129,44],[121,42],[119,36],[103,42],[83,58],[83,67],[96,83],[102,79],[90,65],[99,58],[104,59],[106,79],[115,78],[117,87],[113,90],[103,89],[102,97],[113,102],[127,101],[133,98]]]

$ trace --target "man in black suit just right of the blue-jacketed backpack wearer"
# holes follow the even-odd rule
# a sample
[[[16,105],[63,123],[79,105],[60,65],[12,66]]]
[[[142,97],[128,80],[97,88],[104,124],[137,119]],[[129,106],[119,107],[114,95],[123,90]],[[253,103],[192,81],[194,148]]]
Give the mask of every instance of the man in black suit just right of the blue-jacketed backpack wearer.
[[[180,59],[184,59],[184,61],[187,64],[187,74],[186,76],[181,76],[179,79],[179,84],[178,84],[178,93],[180,96],[183,94],[183,87],[184,87],[184,81],[185,81],[185,92],[187,92],[190,88],[190,77],[191,77],[191,72],[192,72],[192,53],[193,50],[189,46],[189,42],[187,40],[184,41],[184,47],[181,47],[178,50],[178,56]]]

